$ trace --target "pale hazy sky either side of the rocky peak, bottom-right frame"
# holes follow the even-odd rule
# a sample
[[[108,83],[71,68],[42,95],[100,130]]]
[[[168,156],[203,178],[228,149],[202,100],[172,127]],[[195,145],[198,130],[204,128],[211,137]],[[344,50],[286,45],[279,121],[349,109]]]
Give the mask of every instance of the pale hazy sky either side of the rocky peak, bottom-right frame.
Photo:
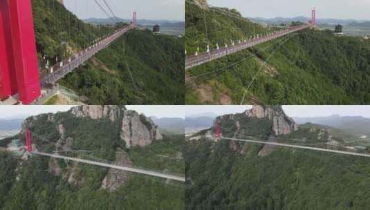
[[[252,106],[187,106],[186,115],[242,113]],[[370,118],[370,106],[283,106],[290,117],[324,117],[330,115],[362,116]]]

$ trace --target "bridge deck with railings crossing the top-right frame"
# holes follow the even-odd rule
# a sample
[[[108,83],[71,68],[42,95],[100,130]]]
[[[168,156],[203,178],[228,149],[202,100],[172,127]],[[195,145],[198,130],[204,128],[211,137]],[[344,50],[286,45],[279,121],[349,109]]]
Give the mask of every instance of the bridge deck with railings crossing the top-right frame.
[[[209,61],[213,61],[215,59],[219,59],[226,55],[230,55],[232,53],[237,53],[240,50],[245,50],[247,48],[251,48],[252,46],[256,46],[257,44],[262,44],[267,41],[271,41],[273,39],[277,39],[279,37],[283,37],[288,35],[292,32],[297,32],[298,30],[303,30],[305,28],[310,27],[309,24],[304,24],[302,26],[296,26],[287,30],[279,31],[272,35],[266,35],[264,37],[259,37],[257,39],[251,39],[245,42],[241,42],[240,44],[235,44],[232,46],[227,46],[223,48],[219,48],[218,50],[212,50],[210,53],[201,53],[199,55],[189,55],[185,59],[185,70],[189,68],[193,68],[195,66],[200,66],[201,64],[205,64]]]

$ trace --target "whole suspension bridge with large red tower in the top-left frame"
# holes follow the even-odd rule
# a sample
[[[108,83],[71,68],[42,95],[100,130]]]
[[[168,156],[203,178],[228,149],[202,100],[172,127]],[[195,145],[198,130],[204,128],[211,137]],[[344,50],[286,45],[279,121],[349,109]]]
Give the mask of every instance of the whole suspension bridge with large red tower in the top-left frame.
[[[105,0],[91,0],[89,5],[95,3],[98,10],[107,15],[109,21],[112,22],[112,25],[107,24],[106,27],[109,28],[108,35],[95,37],[93,41],[89,41],[89,46],[73,53],[71,57],[59,55],[59,60],[62,58],[62,61],[58,61],[57,56],[55,64],[49,66],[49,61],[47,61],[46,66],[40,66],[37,57],[31,1],[0,1],[0,104],[32,104],[42,97],[41,88],[53,87],[58,79],[84,64],[85,61],[100,50],[107,48],[109,44],[127,31],[136,28],[137,13],[133,12],[132,21],[128,26],[111,32],[112,26],[120,22],[112,7]],[[63,1],[49,0],[46,2],[58,8],[53,11],[53,15],[58,15],[58,17],[65,15],[62,14],[64,10],[60,9],[64,8]],[[50,20],[48,21],[50,22]],[[54,18],[53,21],[57,21],[57,18]],[[71,27],[71,23],[69,24]],[[102,27],[92,24],[89,26],[102,30]],[[49,27],[49,30],[52,30],[51,26]],[[81,28],[81,26],[75,27],[79,30]],[[62,34],[68,33],[68,28],[58,29],[62,31]],[[44,55],[44,59],[45,57],[46,55]]]

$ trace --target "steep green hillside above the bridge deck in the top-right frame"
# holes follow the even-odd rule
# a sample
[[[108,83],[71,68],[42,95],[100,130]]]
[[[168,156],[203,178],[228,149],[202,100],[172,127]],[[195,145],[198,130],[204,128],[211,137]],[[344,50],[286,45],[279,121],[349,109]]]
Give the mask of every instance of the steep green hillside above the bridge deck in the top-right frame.
[[[230,45],[232,40],[243,40],[267,31],[256,23],[246,21],[247,19],[242,20],[243,17],[237,10],[211,10],[206,4],[206,1],[186,1],[185,49],[188,55],[194,55],[198,47],[201,52],[205,52],[207,45],[210,48],[216,48],[216,44],[220,47]]]

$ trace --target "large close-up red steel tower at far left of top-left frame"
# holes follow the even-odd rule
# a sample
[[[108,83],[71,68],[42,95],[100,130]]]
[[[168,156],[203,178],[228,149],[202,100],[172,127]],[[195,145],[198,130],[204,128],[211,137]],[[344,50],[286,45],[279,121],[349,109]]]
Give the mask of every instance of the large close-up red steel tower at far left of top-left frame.
[[[23,104],[41,94],[32,12],[31,0],[0,0],[0,97]]]

